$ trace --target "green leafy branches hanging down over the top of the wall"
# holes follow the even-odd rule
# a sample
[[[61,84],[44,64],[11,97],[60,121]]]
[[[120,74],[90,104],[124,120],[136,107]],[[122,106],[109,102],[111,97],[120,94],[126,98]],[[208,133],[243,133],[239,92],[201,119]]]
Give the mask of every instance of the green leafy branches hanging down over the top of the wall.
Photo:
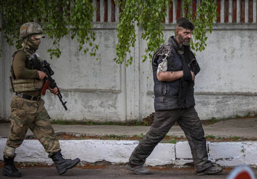
[[[78,49],[83,50],[84,54],[89,50],[94,56],[98,56],[98,45],[95,45],[96,34],[92,28],[92,19],[94,16],[94,8],[91,0],[58,0],[46,1],[37,0],[37,3],[32,4],[31,1],[24,1],[16,3],[14,1],[3,0],[1,4],[2,25],[1,32],[8,45],[16,48],[21,47],[21,40],[19,39],[20,25],[23,22],[30,22],[34,17],[41,19],[41,24],[44,27],[45,33],[53,42],[48,49],[50,58],[59,58],[61,56],[60,40],[68,34],[73,40],[77,40]],[[108,1],[109,2],[109,1]],[[133,58],[130,50],[135,47],[135,42],[138,39],[146,41],[147,46],[144,49],[145,55],[142,56],[142,61],[151,61],[151,57],[156,49],[164,42],[162,23],[166,11],[163,9],[170,5],[170,0],[126,0],[114,1],[117,7],[121,5],[123,12],[119,14],[120,20],[117,25],[117,42],[115,44],[116,58],[115,63],[122,64],[124,61],[127,65],[132,64]],[[202,51],[206,47],[207,36],[206,32],[212,32],[213,21],[218,17],[217,3],[214,0],[201,1],[201,5],[197,7],[198,18],[192,17],[192,4],[191,0],[184,0],[183,7],[187,8],[183,16],[187,17],[195,25],[194,37],[192,39],[192,49],[195,51]],[[71,5],[71,6],[69,6]],[[24,9],[17,12],[17,9]],[[64,7],[63,12],[60,12],[56,7]],[[67,9],[69,7],[69,9]],[[2,12],[3,11],[3,12]],[[135,30],[137,25],[137,30]],[[58,27],[58,29],[56,29]],[[72,27],[72,28],[71,28]],[[208,28],[207,28],[208,27]],[[139,35],[137,37],[136,35]],[[137,39],[138,38],[138,39]],[[2,53],[1,44],[3,41],[0,39],[0,56]],[[88,44],[90,49],[84,49],[84,44]],[[133,50],[132,50],[133,51]],[[127,62],[127,58],[129,61]],[[98,58],[97,58],[98,59]]]

